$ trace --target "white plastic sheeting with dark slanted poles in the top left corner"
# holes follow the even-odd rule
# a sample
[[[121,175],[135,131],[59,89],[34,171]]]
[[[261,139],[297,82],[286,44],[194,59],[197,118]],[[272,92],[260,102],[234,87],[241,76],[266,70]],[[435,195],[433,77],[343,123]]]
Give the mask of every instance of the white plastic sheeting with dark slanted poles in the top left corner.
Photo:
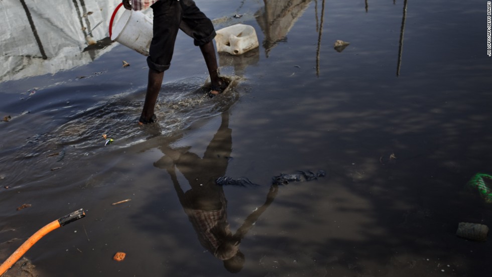
[[[0,1],[0,82],[54,74],[93,61],[109,51],[84,51],[86,37],[109,37],[119,0]],[[122,10],[123,8],[120,8]],[[118,11],[118,14],[121,11]],[[98,25],[99,24],[99,25]]]

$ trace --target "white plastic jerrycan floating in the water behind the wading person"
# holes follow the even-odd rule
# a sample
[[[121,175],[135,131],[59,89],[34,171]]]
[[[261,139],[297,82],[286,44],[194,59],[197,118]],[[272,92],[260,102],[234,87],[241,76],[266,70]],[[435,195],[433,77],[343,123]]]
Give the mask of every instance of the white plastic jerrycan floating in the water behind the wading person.
[[[216,33],[217,52],[240,55],[260,46],[255,28],[250,25],[236,24],[220,29]]]

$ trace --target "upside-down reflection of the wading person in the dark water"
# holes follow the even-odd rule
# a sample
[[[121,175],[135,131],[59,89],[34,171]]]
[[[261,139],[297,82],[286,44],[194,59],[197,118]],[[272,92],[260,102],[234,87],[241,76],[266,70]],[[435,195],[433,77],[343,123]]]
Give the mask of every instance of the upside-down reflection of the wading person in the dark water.
[[[189,148],[161,147],[165,154],[154,166],[166,169],[171,176],[179,201],[195,229],[198,240],[210,253],[223,261],[230,272],[239,272],[244,254],[239,250],[241,239],[253,227],[261,214],[274,201],[278,187],[271,186],[265,203],[250,214],[235,233],[227,222],[227,200],[223,187],[215,180],[224,176],[232,150],[232,130],[228,127],[229,114],[222,113],[222,122],[210,141],[203,158],[189,152]],[[191,189],[181,188],[176,168],[189,182]]]

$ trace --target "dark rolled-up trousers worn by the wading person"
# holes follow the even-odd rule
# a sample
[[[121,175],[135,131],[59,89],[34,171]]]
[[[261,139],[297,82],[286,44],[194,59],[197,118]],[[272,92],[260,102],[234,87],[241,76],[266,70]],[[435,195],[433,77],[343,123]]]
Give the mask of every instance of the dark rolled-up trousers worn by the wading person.
[[[178,30],[192,37],[196,46],[215,37],[212,21],[196,7],[193,0],[160,0],[151,6],[154,12],[154,37],[147,64],[163,72],[171,66]]]

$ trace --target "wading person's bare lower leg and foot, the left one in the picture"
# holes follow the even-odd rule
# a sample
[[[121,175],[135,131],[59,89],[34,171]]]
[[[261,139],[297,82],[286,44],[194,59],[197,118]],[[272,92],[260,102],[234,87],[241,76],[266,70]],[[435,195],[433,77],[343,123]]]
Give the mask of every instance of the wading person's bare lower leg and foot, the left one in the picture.
[[[139,119],[139,124],[150,123],[156,121],[154,108],[156,106],[157,97],[161,90],[162,79],[164,72],[156,71],[149,68],[149,80],[147,84],[147,94],[145,95],[144,108]]]

